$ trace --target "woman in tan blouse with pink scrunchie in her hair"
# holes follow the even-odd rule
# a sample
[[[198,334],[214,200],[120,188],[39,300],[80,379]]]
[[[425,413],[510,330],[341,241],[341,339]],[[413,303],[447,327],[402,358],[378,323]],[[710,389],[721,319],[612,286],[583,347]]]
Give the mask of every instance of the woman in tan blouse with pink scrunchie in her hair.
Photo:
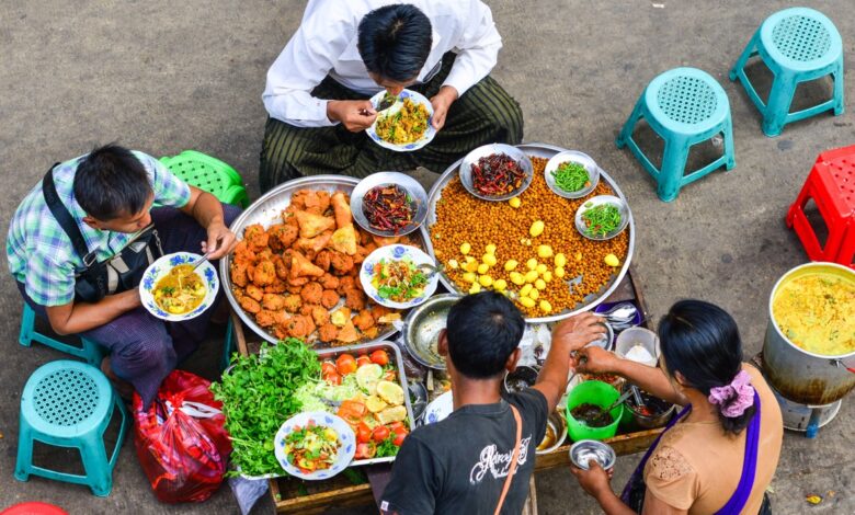
[[[760,371],[742,363],[733,319],[700,300],[675,304],[659,324],[660,367],[584,348],[580,371],[618,374],[685,407],[651,446],[618,497],[592,462],[573,468],[607,514],[765,514],[780,455],[780,408]]]

